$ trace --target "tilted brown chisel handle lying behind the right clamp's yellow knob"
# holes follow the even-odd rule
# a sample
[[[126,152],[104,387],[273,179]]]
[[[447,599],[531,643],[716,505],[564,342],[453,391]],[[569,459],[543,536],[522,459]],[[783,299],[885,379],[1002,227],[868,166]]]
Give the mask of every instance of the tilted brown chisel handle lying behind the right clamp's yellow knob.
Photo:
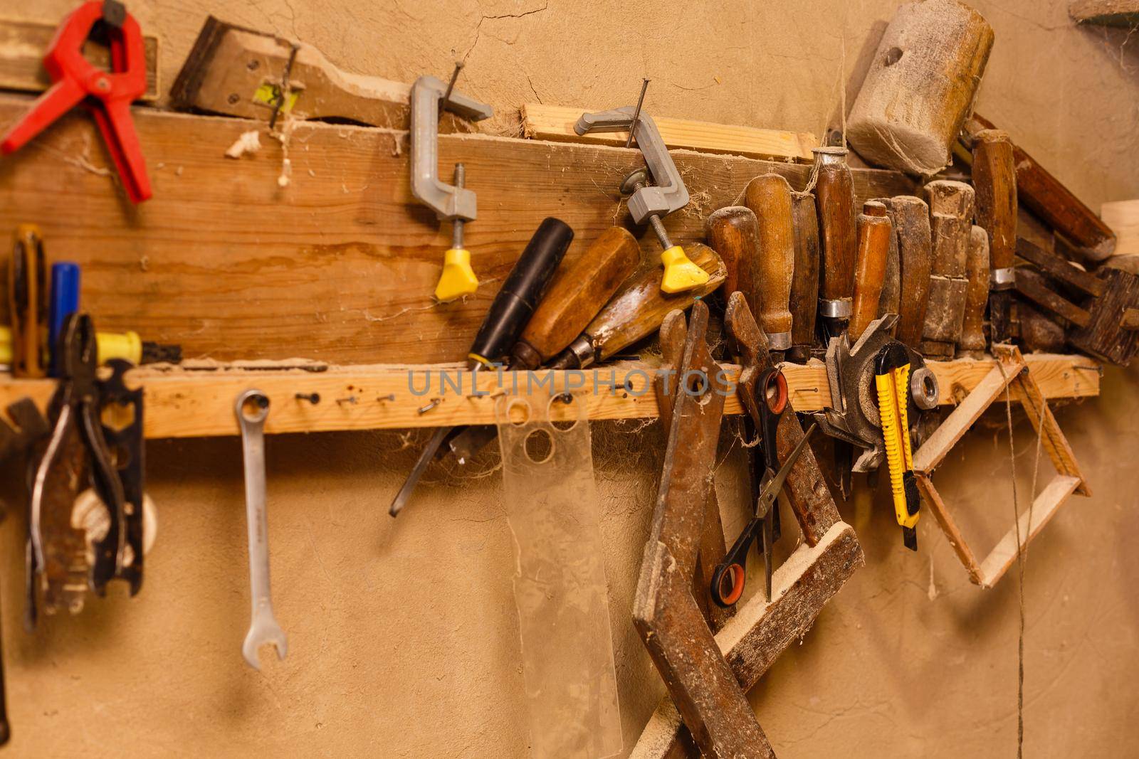
[[[715,250],[694,242],[685,246],[688,258],[708,273],[699,287],[669,295],[661,290],[661,264],[642,264],[565,350],[547,369],[582,369],[605,361],[617,350],[650,335],[674,308],[688,308],[697,298],[723,284],[727,270]]]

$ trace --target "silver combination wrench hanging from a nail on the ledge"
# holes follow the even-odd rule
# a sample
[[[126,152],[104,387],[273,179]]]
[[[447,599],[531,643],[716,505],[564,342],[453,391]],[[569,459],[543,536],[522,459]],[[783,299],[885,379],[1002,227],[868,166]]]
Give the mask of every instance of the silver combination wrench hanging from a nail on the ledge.
[[[269,526],[265,518],[265,416],[269,398],[261,390],[246,390],[237,396],[237,422],[241,428],[241,453],[245,459],[245,517],[249,522],[249,588],[253,595],[253,619],[245,635],[241,653],[254,669],[261,669],[257,650],[272,643],[277,658],[288,653],[285,630],[273,617],[269,597]]]

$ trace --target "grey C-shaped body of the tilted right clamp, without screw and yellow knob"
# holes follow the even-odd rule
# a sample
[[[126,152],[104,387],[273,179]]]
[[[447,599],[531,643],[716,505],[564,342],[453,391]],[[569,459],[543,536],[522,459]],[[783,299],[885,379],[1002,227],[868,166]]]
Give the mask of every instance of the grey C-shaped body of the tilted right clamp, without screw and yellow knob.
[[[577,123],[573,125],[573,131],[577,134],[588,132],[625,132],[633,121],[632,106],[614,108],[613,110],[601,110],[596,114],[582,114]],[[629,213],[633,221],[644,224],[649,215],[667,216],[673,211],[680,211],[688,205],[688,189],[677,164],[672,163],[672,156],[661,138],[661,132],[656,129],[656,123],[652,116],[641,114],[637,117],[633,126],[633,138],[637,147],[645,156],[645,164],[649,174],[653,175],[654,187],[645,187],[629,198]]]

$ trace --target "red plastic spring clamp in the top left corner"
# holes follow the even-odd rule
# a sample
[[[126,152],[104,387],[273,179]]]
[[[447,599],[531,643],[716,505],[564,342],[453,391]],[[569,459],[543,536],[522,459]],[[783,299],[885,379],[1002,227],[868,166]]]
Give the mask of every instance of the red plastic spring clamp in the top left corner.
[[[83,43],[91,35],[97,22],[107,18],[110,43],[112,71],[105,72],[83,58]],[[113,18],[117,7],[118,17]],[[0,151],[8,155],[22,148],[60,116],[84,99],[95,116],[103,139],[107,143],[123,187],[132,203],[150,197],[150,180],[146,175],[146,159],[139,145],[131,102],[146,92],[146,50],[138,22],[122,10],[114,0],[84,2],[68,15],[56,31],[51,46],[43,57],[43,67],[54,84],[40,96],[24,118],[13,126],[0,142]]]

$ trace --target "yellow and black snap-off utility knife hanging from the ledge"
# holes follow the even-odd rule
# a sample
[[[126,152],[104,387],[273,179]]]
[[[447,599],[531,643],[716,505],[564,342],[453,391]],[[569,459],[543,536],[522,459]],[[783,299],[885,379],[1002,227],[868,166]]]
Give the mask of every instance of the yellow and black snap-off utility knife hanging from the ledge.
[[[901,343],[891,343],[878,354],[874,382],[878,389],[878,414],[886,444],[894,518],[902,528],[902,543],[910,551],[917,551],[921,497],[913,476],[913,453],[910,448],[910,357]]]

